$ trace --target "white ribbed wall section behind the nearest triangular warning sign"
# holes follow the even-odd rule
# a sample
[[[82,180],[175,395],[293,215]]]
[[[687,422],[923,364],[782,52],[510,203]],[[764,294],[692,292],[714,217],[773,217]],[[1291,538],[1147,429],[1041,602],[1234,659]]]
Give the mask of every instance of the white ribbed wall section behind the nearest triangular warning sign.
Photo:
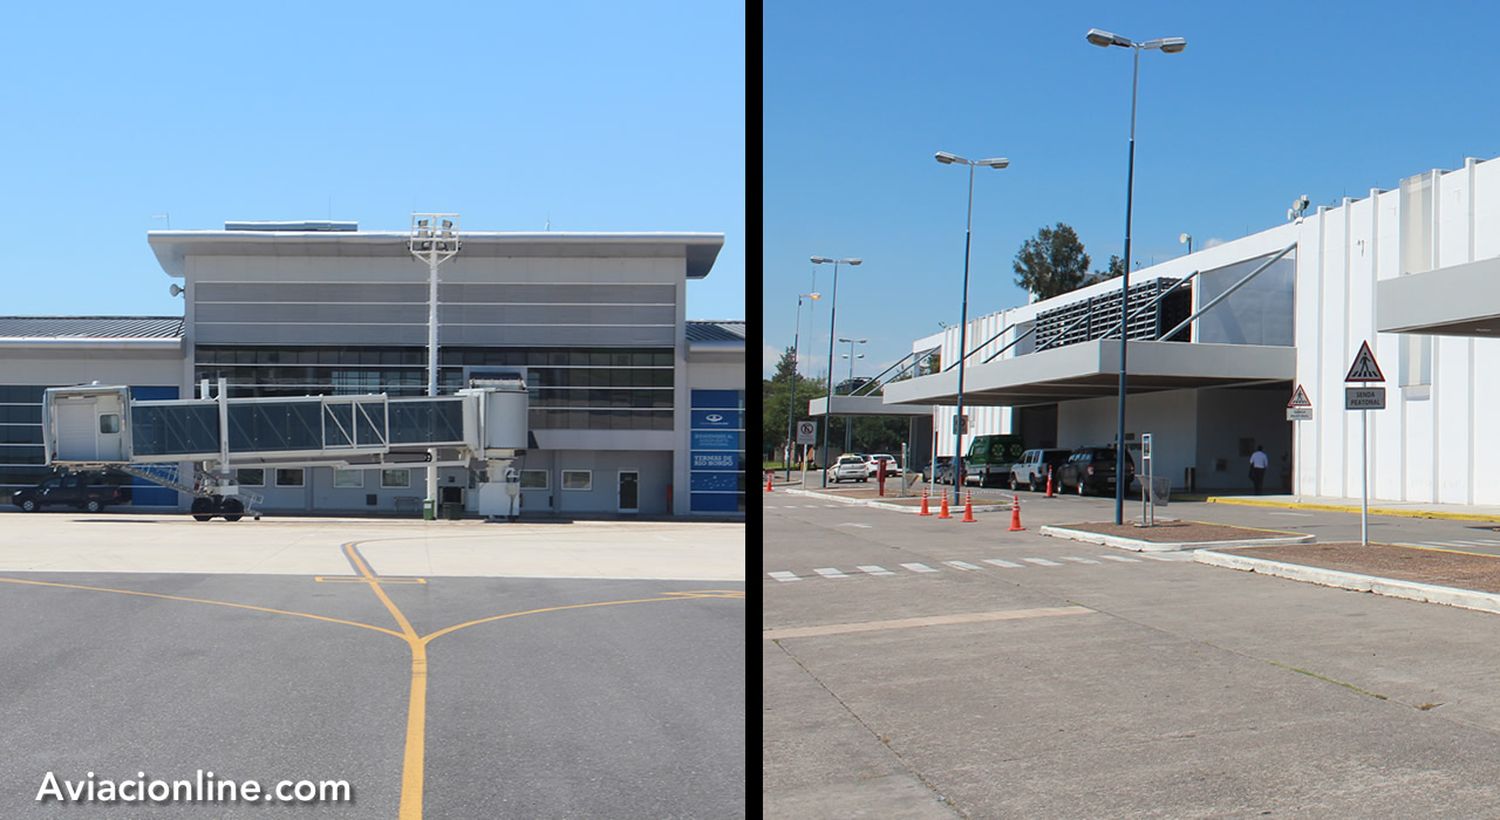
[[[1500,256],[1500,234],[1486,229],[1500,222],[1500,162],[1428,175],[1430,258],[1402,261],[1412,255],[1402,253],[1400,186],[1318,208],[1298,226],[1298,381],[1314,405],[1314,421],[1302,423],[1304,495],[1360,492],[1360,418],[1342,409],[1344,373],[1370,340],[1386,376],[1386,409],[1368,415],[1371,498],[1500,504],[1500,481],[1480,469],[1482,454],[1500,447],[1486,423],[1500,382],[1484,367],[1500,360],[1500,340],[1434,337],[1430,388],[1402,388],[1402,334],[1374,331],[1378,279]]]

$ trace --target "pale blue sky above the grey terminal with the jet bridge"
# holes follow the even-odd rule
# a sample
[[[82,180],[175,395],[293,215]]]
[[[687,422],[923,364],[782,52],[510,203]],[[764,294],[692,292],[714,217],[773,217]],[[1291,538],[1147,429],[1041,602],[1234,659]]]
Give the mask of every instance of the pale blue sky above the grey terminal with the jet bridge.
[[[412,210],[718,231],[744,318],[741,3],[27,3],[0,49],[0,313],[178,313],[146,231]]]

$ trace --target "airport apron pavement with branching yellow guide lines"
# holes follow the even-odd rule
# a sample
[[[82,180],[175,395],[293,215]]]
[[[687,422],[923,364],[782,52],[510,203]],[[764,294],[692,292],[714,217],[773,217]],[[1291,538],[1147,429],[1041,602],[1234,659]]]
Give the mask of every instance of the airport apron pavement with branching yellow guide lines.
[[[0,817],[746,814],[740,570],[674,579],[663,549],[675,541],[657,538],[714,553],[732,543],[723,525],[550,525],[549,565],[524,531],[506,528],[476,541],[422,522],[374,534],[360,523],[240,522],[219,544],[188,540],[208,525],[114,522],[154,538],[90,552],[78,532],[104,525],[20,520],[33,540],[8,529],[0,555],[46,561],[54,544],[38,534],[51,526],[75,571],[0,571]],[[495,555],[468,555],[476,544]],[[230,565],[264,550],[267,571],[160,570],[174,552],[198,567],[219,547]],[[446,549],[456,549],[446,565],[468,577],[386,571],[441,564],[432,556]],[[130,570],[132,555],[144,568]],[[552,577],[507,576],[516,555],[520,574]],[[88,570],[90,558],[122,571]],[[315,571],[291,571],[303,559]],[[622,577],[600,577],[612,573]],[[342,780],[354,799],[34,801],[48,772],[171,781],[200,769],[264,786]]]

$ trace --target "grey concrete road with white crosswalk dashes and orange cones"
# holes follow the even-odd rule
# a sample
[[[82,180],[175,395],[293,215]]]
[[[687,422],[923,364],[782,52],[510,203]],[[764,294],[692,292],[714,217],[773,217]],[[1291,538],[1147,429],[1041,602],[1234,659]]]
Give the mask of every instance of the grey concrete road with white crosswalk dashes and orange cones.
[[[768,817],[1494,814],[1496,616],[1041,538],[1112,502],[1022,499],[1026,532],[764,498]]]

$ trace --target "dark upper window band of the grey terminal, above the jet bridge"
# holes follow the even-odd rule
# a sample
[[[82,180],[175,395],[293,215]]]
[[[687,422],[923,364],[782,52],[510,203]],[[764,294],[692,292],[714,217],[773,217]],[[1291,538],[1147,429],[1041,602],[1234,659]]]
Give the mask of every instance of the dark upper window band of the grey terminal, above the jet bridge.
[[[670,430],[672,348],[440,348],[438,390],[488,367],[525,372],[534,430]],[[194,381],[230,382],[231,397],[428,391],[424,348],[200,346]],[[394,418],[392,420],[394,436]]]

